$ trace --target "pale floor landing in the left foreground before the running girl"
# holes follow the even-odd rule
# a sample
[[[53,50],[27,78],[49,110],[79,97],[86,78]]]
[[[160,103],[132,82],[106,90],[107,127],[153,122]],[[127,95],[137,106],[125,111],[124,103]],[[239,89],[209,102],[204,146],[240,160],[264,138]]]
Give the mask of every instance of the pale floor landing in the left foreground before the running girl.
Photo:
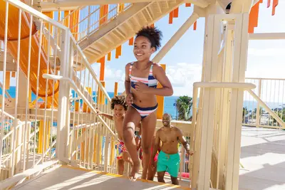
[[[96,189],[96,190],[155,190],[155,189],[190,189],[172,184],[138,179],[132,182],[127,177],[115,174],[103,174],[86,169],[61,166],[51,169],[35,179],[26,181],[14,188],[21,190],[56,190],[56,189]]]

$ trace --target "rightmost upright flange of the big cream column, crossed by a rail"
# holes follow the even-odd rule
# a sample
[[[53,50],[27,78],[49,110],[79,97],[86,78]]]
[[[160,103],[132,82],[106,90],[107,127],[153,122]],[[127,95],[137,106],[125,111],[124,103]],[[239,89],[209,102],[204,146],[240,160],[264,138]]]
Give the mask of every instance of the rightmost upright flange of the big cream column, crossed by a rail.
[[[244,83],[247,65],[249,14],[236,15],[234,28],[234,58],[232,65],[232,82]],[[225,189],[239,188],[239,156],[242,136],[242,107],[244,91],[232,90],[229,111],[229,130],[227,141],[227,180]]]

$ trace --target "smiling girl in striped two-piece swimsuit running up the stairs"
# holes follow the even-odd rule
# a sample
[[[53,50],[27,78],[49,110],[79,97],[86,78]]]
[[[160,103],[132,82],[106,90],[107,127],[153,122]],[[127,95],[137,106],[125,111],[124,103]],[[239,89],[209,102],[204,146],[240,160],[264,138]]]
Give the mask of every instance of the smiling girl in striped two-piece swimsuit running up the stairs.
[[[171,96],[173,94],[170,80],[165,70],[157,63],[150,61],[150,56],[160,48],[162,32],[155,27],[147,26],[138,31],[133,53],[137,61],[125,66],[125,93],[128,110],[123,122],[123,141],[128,149],[133,168],[130,180],[138,178],[140,161],[137,154],[134,132],[135,126],[142,123],[142,179],[147,177],[150,166],[150,146],[155,133],[157,100],[155,95]],[[157,88],[157,83],[162,88]]]

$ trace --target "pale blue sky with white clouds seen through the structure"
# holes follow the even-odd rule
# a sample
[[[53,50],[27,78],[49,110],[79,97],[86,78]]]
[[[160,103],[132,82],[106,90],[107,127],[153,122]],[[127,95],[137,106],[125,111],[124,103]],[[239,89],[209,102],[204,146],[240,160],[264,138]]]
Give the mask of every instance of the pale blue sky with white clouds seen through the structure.
[[[259,7],[259,26],[256,33],[285,32],[285,2],[279,1],[276,15],[271,16],[271,7],[266,8],[266,3]],[[163,33],[162,46],[192,14],[192,7],[180,6],[179,18],[175,18],[172,24],[168,23],[168,15],[155,23]],[[175,46],[167,53],[160,63],[167,65],[167,76],[172,82],[174,95],[192,95],[192,83],[201,78],[202,51],[204,40],[204,18],[198,19],[197,31],[191,27]],[[115,81],[119,83],[119,92],[124,91],[125,64],[135,60],[133,46],[123,44],[122,56],[105,64],[106,89],[113,91]],[[285,41],[249,41],[249,53],[247,63],[247,77],[284,78],[285,68]],[[155,54],[152,55],[155,56]],[[95,63],[93,68],[99,73],[100,65]],[[257,69],[258,68],[258,69]],[[276,70],[276,68],[279,68]]]

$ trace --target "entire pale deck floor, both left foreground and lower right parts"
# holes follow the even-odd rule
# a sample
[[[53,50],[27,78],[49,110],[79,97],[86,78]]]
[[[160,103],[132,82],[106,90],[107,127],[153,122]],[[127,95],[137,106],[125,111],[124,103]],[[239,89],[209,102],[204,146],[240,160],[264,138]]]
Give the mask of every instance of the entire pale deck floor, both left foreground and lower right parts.
[[[243,127],[240,162],[244,168],[239,171],[239,189],[285,189],[285,131]],[[172,186],[169,179],[166,182],[168,184],[139,179],[134,183],[123,176],[63,166],[51,169],[14,189],[189,189]],[[180,181],[180,184],[187,186],[188,183]]]

